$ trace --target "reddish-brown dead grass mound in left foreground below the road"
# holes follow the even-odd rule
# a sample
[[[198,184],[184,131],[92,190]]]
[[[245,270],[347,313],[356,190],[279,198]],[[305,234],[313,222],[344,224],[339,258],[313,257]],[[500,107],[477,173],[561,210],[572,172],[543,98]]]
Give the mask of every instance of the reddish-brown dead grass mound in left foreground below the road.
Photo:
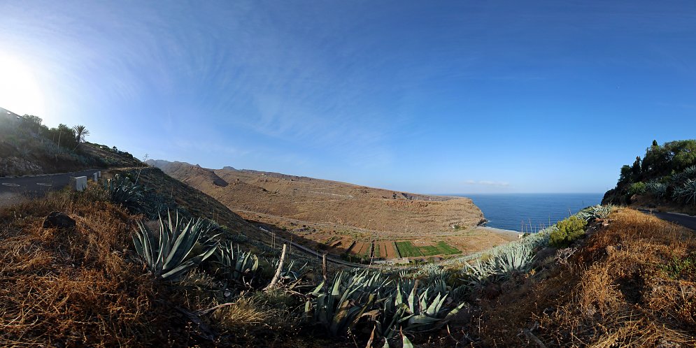
[[[76,227],[43,229],[53,210]],[[68,191],[0,210],[0,345],[132,346],[185,336],[173,332],[157,284],[127,256],[133,228],[120,208]]]

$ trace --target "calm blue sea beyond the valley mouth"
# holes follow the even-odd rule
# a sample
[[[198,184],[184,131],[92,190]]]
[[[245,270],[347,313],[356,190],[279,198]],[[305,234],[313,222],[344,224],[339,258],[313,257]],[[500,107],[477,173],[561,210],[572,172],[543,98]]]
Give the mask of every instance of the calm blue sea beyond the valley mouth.
[[[490,222],[489,227],[522,231],[549,226],[589,205],[599,204],[603,194],[455,194],[474,200]]]

